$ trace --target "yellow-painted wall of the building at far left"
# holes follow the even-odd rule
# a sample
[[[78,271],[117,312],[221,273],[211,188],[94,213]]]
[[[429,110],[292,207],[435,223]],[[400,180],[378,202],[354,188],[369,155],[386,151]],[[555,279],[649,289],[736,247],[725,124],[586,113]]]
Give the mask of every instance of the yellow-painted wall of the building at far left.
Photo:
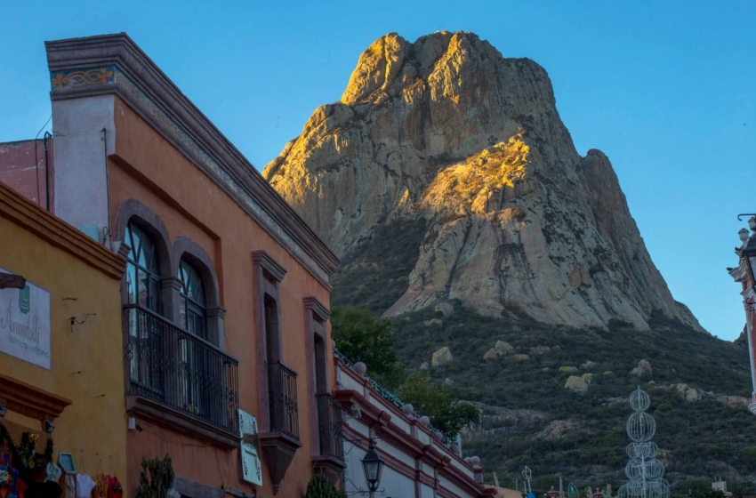
[[[125,477],[126,430],[119,281],[37,237],[0,213],[0,267],[50,292],[51,370],[0,353],[0,374],[68,398],[52,439],[60,452],[80,452],[85,471]],[[76,301],[63,301],[74,297]],[[69,317],[96,313],[70,332]],[[76,373],[76,374],[75,374]],[[104,395],[104,396],[103,396]],[[42,430],[42,422],[18,414],[10,422]],[[44,446],[40,446],[40,451]],[[112,470],[111,470],[112,462]],[[80,469],[77,469],[80,470]]]

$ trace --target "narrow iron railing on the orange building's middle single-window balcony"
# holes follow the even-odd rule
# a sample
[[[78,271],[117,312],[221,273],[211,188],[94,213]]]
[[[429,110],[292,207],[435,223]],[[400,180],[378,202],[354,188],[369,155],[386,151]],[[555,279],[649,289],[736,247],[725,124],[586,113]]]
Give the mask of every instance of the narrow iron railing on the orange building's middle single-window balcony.
[[[297,374],[280,361],[268,364],[270,430],[299,439]]]

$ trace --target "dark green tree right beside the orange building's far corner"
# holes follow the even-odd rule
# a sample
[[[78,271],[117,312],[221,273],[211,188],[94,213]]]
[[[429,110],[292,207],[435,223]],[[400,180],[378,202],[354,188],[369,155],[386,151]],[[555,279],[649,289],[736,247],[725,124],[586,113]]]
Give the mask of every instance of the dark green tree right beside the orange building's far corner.
[[[331,309],[332,337],[336,349],[352,361],[367,365],[367,374],[388,389],[396,389],[404,365],[393,346],[394,325],[369,309],[337,306]]]

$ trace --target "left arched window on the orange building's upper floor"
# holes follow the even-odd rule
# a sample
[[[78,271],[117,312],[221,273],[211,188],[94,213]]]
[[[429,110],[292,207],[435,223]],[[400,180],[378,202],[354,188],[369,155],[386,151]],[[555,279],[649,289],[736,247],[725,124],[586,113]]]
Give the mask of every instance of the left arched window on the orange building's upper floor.
[[[131,221],[126,225],[125,242],[132,248],[126,264],[128,303],[160,313],[160,267],[155,243]]]

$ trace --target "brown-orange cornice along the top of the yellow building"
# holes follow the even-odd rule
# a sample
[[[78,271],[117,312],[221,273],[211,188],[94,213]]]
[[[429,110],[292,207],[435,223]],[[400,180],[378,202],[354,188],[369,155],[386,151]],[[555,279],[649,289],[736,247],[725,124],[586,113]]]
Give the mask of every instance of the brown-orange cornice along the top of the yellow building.
[[[113,253],[65,221],[0,183],[0,216],[27,229],[50,245],[69,253],[109,277],[120,280],[126,269],[124,256]]]

